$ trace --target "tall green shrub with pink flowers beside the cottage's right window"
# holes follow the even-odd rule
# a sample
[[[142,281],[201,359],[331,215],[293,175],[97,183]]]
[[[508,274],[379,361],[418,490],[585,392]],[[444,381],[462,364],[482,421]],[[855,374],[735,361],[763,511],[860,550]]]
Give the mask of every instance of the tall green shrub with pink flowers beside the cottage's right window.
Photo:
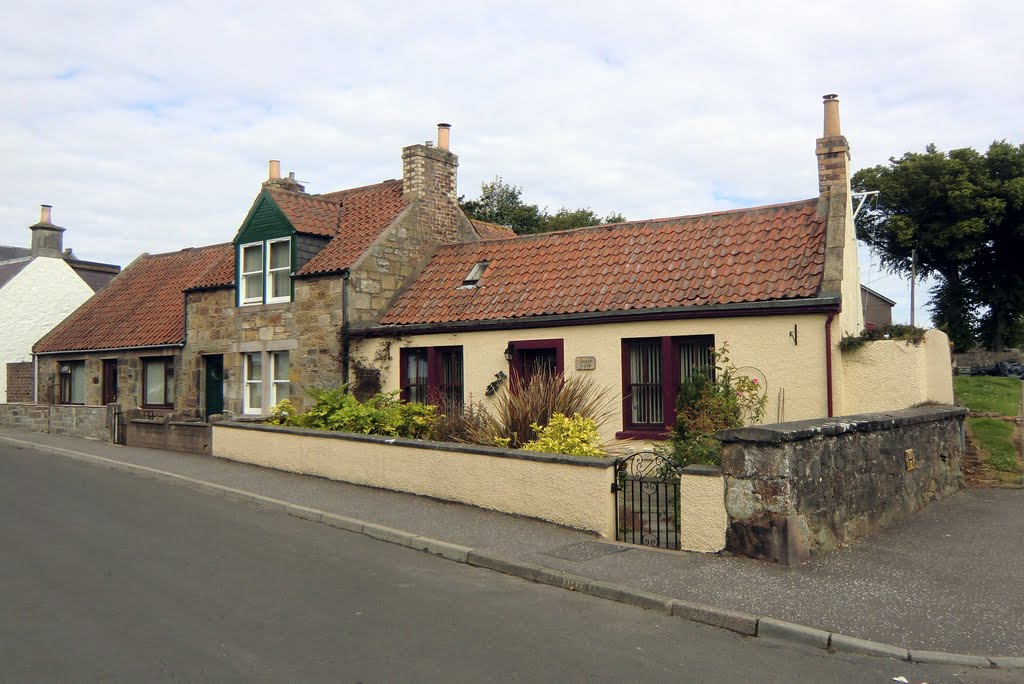
[[[712,350],[714,373],[695,372],[679,387],[676,422],[669,435],[668,457],[678,466],[721,463],[719,430],[760,423],[768,397],[760,383],[738,375],[729,349]]]

